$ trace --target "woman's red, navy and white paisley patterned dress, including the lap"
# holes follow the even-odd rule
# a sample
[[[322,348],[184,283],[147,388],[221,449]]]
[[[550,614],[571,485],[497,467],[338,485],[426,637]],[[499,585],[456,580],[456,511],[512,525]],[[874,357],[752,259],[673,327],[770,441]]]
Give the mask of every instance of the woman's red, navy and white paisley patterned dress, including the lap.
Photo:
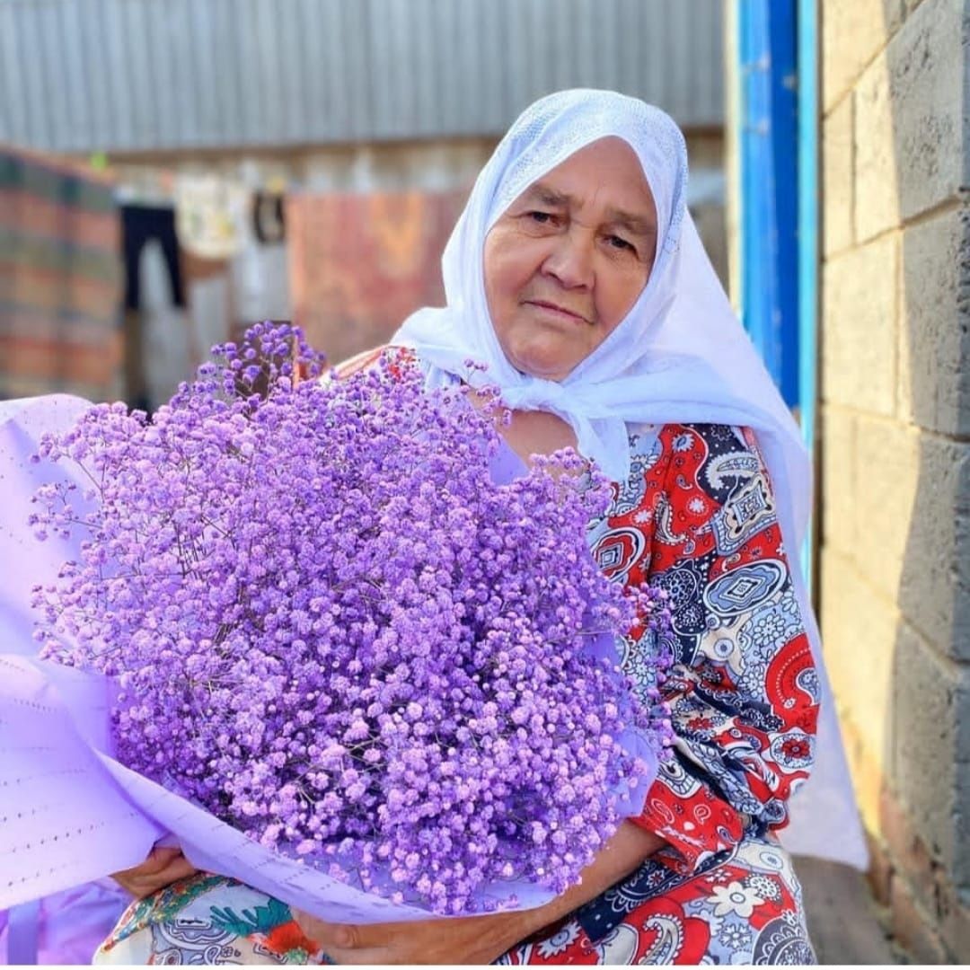
[[[811,768],[819,684],[755,436],[631,429],[630,479],[591,529],[604,572],[670,595],[678,655],[660,686],[674,758],[633,821],[668,843],[500,963],[814,963],[774,831]],[[637,630],[623,663],[637,689]],[[321,962],[287,908],[200,875],[135,903],[95,962]]]

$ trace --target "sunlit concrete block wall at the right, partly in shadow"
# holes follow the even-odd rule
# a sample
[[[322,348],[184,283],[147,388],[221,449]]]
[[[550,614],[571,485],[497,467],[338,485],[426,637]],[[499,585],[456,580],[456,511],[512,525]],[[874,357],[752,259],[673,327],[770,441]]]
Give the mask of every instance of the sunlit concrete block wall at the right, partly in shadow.
[[[820,612],[889,929],[970,960],[970,4],[822,0]]]

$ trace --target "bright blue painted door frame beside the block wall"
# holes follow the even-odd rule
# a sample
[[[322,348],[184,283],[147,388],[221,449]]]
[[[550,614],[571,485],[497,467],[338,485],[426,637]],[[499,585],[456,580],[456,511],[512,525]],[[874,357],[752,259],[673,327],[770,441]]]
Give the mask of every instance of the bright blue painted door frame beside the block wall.
[[[741,318],[815,452],[818,333],[816,0],[734,0]],[[811,588],[810,528],[801,550]]]

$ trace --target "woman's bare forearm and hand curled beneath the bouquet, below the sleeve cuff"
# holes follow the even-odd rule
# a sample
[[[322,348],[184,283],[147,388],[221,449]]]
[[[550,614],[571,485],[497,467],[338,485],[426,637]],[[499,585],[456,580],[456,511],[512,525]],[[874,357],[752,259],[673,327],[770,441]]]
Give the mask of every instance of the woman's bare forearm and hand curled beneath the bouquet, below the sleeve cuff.
[[[299,910],[293,911],[293,919],[335,963],[491,963],[629,876],[663,845],[660,836],[625,822],[583,870],[577,885],[531,910],[371,926],[324,922]]]

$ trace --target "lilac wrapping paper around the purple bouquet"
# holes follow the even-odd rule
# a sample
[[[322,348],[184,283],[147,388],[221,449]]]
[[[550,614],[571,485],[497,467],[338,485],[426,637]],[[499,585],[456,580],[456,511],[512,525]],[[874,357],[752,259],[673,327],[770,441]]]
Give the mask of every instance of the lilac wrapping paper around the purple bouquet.
[[[113,759],[112,684],[96,674],[34,658],[30,589],[51,582],[74,554],[61,540],[38,542],[26,526],[30,497],[43,482],[67,472],[32,466],[44,430],[70,428],[89,404],[51,396],[0,403],[0,908],[76,887],[142,862],[159,840],[178,844],[200,869],[219,872],[334,922],[425,920],[428,911],[346,886],[309,865],[264,849],[184,798]],[[504,448],[493,474],[508,481],[524,468]],[[614,656],[608,637],[591,649]],[[628,792],[623,814],[642,809],[656,770],[646,742],[621,739],[651,768]],[[515,908],[552,897],[528,882],[482,889],[488,897],[516,896]]]

